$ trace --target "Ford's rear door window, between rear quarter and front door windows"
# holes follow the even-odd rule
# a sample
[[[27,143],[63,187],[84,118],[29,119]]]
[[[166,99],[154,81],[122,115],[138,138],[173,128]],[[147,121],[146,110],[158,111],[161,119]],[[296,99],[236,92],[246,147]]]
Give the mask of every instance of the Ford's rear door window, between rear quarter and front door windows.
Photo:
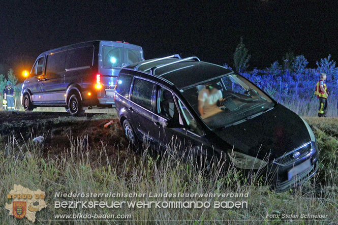
[[[132,101],[148,110],[151,110],[151,95],[153,83],[135,79],[132,91]]]

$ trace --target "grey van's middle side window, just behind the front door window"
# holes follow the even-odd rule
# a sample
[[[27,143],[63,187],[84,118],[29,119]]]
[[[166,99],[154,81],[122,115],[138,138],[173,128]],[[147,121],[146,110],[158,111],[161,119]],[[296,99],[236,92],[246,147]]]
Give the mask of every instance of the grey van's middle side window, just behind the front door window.
[[[65,72],[67,51],[56,52],[47,55],[46,75],[53,75],[59,72]]]

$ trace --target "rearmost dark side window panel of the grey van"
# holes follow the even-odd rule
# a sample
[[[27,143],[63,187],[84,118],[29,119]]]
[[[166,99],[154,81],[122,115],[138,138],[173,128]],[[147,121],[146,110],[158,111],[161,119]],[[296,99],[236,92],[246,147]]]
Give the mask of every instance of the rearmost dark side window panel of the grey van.
[[[93,66],[94,46],[69,49],[67,52],[66,69]]]

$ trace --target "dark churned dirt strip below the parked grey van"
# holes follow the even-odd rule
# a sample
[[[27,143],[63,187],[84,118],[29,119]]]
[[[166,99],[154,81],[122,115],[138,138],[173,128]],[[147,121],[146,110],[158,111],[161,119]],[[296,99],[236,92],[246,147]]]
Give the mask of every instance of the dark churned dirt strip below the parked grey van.
[[[113,121],[110,127],[104,124]],[[6,145],[13,137],[18,144],[23,145],[33,138],[43,136],[44,154],[56,157],[79,145],[82,138],[89,149],[100,149],[102,143],[106,146],[108,155],[116,153],[118,146],[128,145],[119,125],[116,114],[85,113],[74,117],[63,112],[0,112],[0,142]],[[95,153],[91,155],[95,157]]]

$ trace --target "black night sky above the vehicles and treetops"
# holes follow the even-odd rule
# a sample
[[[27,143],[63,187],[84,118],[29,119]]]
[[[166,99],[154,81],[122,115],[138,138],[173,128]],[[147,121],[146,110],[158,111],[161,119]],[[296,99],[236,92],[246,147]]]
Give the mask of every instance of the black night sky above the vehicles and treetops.
[[[146,59],[180,53],[233,64],[243,36],[250,68],[288,51],[310,67],[338,60],[338,1],[4,1],[0,4],[0,73],[32,67],[43,51],[89,40],[125,40]],[[325,2],[325,4],[323,4]]]

